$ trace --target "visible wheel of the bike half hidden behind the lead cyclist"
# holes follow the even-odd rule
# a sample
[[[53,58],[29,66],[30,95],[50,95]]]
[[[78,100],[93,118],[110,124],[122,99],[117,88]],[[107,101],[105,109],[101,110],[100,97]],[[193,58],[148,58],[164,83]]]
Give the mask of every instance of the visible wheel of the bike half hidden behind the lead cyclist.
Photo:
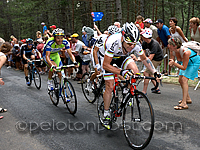
[[[81,79],[81,87],[83,91],[83,95],[87,99],[89,103],[94,103],[96,100],[95,92],[94,92],[94,84],[89,85],[88,80],[90,79],[89,73],[84,73]]]

